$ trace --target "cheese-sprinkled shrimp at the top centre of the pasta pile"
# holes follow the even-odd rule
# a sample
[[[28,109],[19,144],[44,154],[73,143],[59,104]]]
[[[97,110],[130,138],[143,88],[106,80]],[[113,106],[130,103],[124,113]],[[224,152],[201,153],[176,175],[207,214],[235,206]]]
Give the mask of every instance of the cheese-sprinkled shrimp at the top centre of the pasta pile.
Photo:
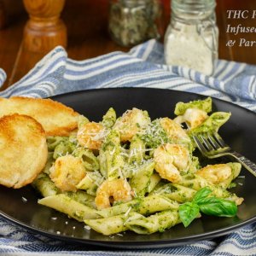
[[[148,113],[138,108],[126,111],[113,125],[119,131],[121,142],[131,141],[131,138],[150,123]]]

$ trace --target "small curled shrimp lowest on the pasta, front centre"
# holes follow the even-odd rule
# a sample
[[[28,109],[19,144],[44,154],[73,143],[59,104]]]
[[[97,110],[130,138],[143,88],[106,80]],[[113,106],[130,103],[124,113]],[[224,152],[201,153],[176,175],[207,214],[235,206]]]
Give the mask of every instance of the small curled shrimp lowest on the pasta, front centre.
[[[122,178],[105,180],[96,191],[96,207],[99,210],[111,207],[111,198],[113,201],[131,201],[130,184]]]

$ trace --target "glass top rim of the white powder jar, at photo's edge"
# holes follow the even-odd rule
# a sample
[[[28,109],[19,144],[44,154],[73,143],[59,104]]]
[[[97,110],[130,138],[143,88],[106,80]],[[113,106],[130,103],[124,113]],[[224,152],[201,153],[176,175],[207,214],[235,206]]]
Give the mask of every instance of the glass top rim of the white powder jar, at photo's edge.
[[[215,9],[215,0],[172,0],[172,11],[197,14]]]

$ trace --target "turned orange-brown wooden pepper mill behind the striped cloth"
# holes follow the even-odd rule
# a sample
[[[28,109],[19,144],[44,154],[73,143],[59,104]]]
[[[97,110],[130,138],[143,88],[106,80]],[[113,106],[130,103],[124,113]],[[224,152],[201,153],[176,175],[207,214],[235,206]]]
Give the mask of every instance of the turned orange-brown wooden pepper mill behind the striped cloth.
[[[67,46],[67,28],[60,19],[65,0],[23,0],[30,20],[24,29],[23,47],[46,53],[57,45]]]

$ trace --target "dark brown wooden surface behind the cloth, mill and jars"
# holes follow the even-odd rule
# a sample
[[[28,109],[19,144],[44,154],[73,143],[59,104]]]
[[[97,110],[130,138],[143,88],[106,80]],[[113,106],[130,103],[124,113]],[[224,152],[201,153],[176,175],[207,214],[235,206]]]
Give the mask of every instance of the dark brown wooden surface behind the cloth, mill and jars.
[[[170,20],[169,0],[165,7],[164,26]],[[22,78],[46,53],[32,53],[22,47],[28,15],[21,0],[3,0],[8,26],[0,30],[0,67],[7,73],[3,89]],[[220,59],[256,64],[256,32],[227,32],[228,26],[256,26],[256,0],[217,0]],[[228,10],[247,10],[247,19],[229,19]],[[256,11],[255,11],[256,12]],[[61,19],[67,25],[67,53],[74,60],[85,60],[115,50],[128,48],[115,44],[108,36],[108,0],[66,0]],[[244,39],[243,39],[244,38]],[[236,40],[234,46],[228,46]],[[253,44],[255,41],[255,44]],[[231,42],[231,41],[230,41]],[[240,43],[242,43],[240,45]],[[251,46],[247,46],[253,44]]]

